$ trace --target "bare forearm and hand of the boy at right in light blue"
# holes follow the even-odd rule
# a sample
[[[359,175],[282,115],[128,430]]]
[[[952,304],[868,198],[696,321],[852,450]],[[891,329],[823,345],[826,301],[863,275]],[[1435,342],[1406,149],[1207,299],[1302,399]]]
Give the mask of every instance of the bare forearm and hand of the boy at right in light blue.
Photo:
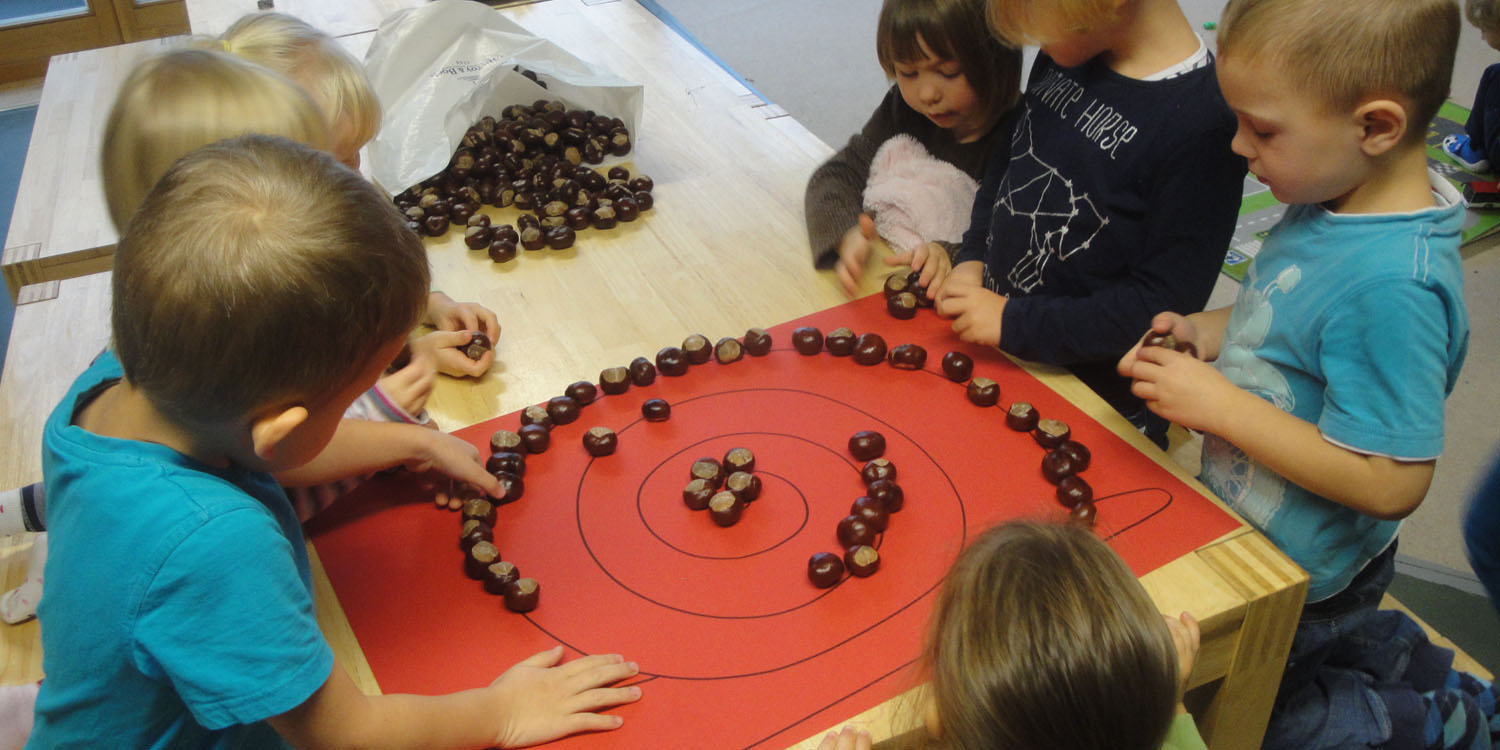
[[[1288,482],[1366,516],[1406,518],[1432,482],[1436,460],[1395,460],[1335,446],[1317,424],[1236,387],[1188,354],[1143,346],[1130,376],[1131,393],[1156,414],[1212,432]]]

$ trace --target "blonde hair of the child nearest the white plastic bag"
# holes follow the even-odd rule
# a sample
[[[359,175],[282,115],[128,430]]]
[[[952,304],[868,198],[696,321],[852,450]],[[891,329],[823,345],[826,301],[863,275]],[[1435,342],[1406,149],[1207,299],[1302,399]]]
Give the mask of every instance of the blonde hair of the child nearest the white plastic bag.
[[[302,84],[322,106],[336,150],[358,152],[380,130],[380,99],[364,66],[332,36],[276,12],[242,16],[219,36],[224,50]]]

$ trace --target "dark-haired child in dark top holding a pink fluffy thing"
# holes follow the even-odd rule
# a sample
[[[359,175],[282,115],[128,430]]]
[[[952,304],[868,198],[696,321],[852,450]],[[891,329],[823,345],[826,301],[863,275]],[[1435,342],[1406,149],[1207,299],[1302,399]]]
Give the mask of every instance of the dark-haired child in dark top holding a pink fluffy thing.
[[[1014,108],[1020,87],[1020,52],[988,34],[984,0],[885,0],[876,26],[876,56],[896,86],[864,129],[807,183],[813,262],[836,268],[849,294],[876,236],[876,222],[861,213],[861,195],[880,146],[909,135],[934,159],[978,180],[984,165],[1005,152],[1010,128],[1002,120]],[[963,207],[970,200],[972,188],[962,200],[952,198]],[[926,258],[932,248],[920,252]],[[914,261],[912,254],[886,258],[888,266],[908,261]],[[924,272],[928,280],[936,270]]]

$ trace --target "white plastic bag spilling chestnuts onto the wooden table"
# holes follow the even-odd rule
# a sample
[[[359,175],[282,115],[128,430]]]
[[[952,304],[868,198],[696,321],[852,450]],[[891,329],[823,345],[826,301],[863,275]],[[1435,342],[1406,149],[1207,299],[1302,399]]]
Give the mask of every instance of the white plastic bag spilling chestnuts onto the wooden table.
[[[558,99],[568,110],[620,117],[632,140],[639,138],[640,84],[471,0],[435,0],[386,18],[364,69],[386,110],[369,144],[369,170],[393,195],[442,171],[471,124],[486,114],[500,117],[512,104]]]

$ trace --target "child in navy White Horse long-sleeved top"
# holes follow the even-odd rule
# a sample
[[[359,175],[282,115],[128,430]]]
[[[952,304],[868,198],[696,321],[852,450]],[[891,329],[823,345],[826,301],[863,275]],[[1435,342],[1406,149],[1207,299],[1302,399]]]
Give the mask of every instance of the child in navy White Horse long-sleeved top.
[[[1164,447],[1114,363],[1156,310],[1203,308],[1234,231],[1245,162],[1214,57],[1176,0],[992,0],[988,20],[1041,54],[938,310],[1068,366]]]

